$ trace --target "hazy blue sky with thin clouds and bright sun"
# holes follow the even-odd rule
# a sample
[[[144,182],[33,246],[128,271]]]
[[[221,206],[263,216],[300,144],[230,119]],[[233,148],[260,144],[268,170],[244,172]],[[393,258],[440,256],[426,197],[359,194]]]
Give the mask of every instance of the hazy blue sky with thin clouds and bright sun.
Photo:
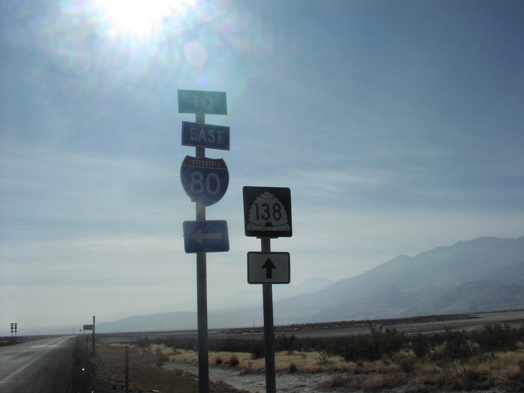
[[[205,150],[230,177],[206,208],[230,241],[210,303],[262,302],[245,185],[291,190],[271,240],[290,285],[524,235],[522,20],[520,1],[3,0],[0,335],[196,311],[179,89],[227,94],[205,116],[231,129]]]

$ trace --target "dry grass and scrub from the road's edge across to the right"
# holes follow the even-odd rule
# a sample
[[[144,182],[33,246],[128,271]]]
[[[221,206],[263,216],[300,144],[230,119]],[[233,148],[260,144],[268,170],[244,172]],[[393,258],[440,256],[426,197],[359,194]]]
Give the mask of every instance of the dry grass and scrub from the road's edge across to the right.
[[[163,345],[130,346],[129,350],[129,380],[133,391],[198,391],[194,376],[160,367],[169,361],[198,365],[198,352],[173,350]],[[101,342],[97,348],[98,375],[116,389],[124,388],[124,354],[124,345]],[[254,359],[249,353],[210,352],[209,364],[236,367],[250,373],[263,372],[265,361],[264,358]],[[402,388],[409,393],[489,389],[524,391],[524,353],[521,351],[479,354],[467,361],[449,363],[423,362],[411,351],[401,351],[373,362],[346,362],[339,356],[325,356],[322,352],[278,352],[275,366],[278,372],[288,373],[342,372],[323,383],[325,389],[375,391]],[[211,385],[213,393],[240,391],[222,382]]]

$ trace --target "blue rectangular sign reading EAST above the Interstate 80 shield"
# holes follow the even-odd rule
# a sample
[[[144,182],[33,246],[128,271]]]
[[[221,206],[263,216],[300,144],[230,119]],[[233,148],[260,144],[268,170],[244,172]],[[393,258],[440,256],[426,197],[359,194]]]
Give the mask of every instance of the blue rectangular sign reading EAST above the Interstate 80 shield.
[[[230,149],[230,127],[182,122],[182,145]]]

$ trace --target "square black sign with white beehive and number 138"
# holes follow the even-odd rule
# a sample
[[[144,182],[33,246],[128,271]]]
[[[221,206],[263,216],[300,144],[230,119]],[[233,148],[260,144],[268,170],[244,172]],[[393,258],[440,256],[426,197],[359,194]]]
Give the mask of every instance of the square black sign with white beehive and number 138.
[[[291,237],[291,191],[282,187],[244,187],[246,236]]]

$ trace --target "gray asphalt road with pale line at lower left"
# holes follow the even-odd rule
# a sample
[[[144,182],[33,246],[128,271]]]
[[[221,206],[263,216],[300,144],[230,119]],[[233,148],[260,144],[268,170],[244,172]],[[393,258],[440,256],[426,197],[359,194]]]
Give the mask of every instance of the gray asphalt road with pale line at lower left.
[[[74,337],[53,337],[0,348],[2,393],[69,393]]]

